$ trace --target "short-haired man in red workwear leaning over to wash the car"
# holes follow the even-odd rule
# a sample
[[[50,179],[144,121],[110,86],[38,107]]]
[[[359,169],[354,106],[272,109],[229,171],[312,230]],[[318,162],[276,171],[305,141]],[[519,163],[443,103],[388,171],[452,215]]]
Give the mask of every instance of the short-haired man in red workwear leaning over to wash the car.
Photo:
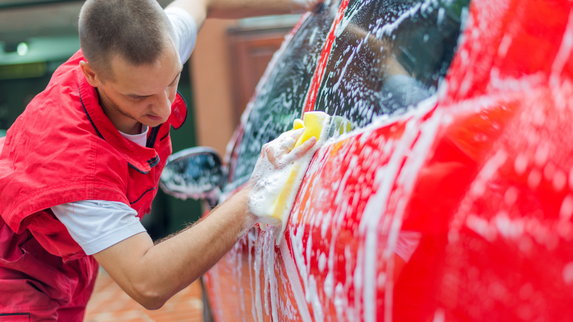
[[[85,2],[81,50],[0,139],[0,320],[83,320],[98,262],[144,307],[162,307],[252,227],[248,187],[157,245],[139,219],[171,154],[170,127],[185,121],[176,88],[207,15],[309,5],[176,0],[163,11],[155,0]],[[296,158],[315,142],[276,157]]]

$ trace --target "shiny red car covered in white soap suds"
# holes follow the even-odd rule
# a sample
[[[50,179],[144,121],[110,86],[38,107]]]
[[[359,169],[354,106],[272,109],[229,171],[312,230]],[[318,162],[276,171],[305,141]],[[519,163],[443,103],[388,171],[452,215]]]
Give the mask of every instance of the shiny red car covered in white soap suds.
[[[327,0],[303,15],[227,166],[192,150],[163,177],[180,195],[221,187],[222,201],[304,112],[353,124],[314,155],[280,244],[255,227],[206,274],[207,311],[573,320],[572,52],[567,0]]]

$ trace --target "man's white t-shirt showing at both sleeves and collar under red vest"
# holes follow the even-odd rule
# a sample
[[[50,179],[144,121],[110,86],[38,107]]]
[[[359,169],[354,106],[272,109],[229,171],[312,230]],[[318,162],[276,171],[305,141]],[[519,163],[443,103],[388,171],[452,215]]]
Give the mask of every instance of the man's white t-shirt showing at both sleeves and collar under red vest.
[[[165,13],[173,27],[175,44],[179,48],[179,58],[183,64],[195,48],[197,25],[193,17],[183,9],[171,7],[166,9]],[[120,134],[140,146],[146,146],[148,131],[149,127],[143,125],[140,134]],[[88,255],[101,252],[146,231],[136,217],[137,211],[121,202],[84,200],[54,206],[52,211]]]

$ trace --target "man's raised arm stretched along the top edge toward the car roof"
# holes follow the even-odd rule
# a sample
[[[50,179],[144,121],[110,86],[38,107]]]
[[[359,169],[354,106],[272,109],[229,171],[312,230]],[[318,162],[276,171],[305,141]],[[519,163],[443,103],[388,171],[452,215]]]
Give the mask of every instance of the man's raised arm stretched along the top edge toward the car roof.
[[[175,0],[167,7],[185,9],[201,29],[207,17],[238,19],[288,14],[311,10],[319,2],[322,0]]]

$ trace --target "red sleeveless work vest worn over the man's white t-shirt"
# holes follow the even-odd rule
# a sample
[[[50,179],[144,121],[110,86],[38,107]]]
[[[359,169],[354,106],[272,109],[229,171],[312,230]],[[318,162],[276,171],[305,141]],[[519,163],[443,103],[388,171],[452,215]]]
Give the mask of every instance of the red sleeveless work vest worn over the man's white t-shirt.
[[[64,260],[85,254],[49,208],[117,201],[142,218],[172,151],[169,125],[179,128],[187,116],[177,95],[167,122],[150,129],[147,147],[123,138],[101,109],[80,60],[81,50],[56,70],[10,127],[0,155],[0,215],[16,233],[29,229]]]

